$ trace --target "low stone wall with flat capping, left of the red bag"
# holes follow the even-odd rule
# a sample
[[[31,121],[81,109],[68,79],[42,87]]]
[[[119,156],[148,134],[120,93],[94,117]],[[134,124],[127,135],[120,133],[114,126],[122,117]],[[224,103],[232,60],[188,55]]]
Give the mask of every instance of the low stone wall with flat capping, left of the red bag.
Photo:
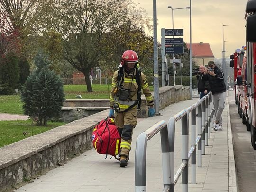
[[[91,133],[109,110],[0,148],[0,192],[92,148]]]

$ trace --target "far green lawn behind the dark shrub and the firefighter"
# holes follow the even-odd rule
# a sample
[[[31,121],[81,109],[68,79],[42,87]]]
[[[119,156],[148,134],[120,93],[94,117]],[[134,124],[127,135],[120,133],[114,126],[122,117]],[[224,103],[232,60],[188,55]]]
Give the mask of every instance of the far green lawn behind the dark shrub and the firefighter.
[[[149,86],[153,91],[153,86]],[[65,99],[108,99],[111,85],[92,85],[93,92],[88,93],[86,85],[64,85]],[[0,113],[23,114],[22,102],[19,95],[0,95]]]

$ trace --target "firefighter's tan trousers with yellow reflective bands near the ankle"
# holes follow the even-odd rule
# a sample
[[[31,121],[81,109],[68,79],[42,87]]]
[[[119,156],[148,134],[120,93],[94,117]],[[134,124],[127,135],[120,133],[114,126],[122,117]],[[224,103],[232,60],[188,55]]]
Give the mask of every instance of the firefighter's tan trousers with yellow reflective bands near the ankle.
[[[137,108],[130,109],[127,112],[115,111],[115,124],[121,134],[120,154],[127,158],[131,150],[131,141],[133,128],[137,125]]]

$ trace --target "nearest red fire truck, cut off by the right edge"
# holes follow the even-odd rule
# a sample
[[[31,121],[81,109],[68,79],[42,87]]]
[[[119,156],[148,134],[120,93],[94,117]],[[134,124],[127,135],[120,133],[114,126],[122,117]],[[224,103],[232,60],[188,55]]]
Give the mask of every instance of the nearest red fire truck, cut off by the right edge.
[[[247,87],[247,119],[251,132],[251,144],[256,150],[256,0],[246,5],[246,78],[237,76],[237,85]]]

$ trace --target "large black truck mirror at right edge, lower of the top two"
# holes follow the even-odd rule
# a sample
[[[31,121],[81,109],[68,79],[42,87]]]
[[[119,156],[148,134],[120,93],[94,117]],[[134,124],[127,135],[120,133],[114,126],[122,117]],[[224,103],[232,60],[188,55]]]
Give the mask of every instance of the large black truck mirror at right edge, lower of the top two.
[[[250,1],[248,1],[250,2]],[[246,41],[256,42],[256,14],[247,17],[246,22]]]

